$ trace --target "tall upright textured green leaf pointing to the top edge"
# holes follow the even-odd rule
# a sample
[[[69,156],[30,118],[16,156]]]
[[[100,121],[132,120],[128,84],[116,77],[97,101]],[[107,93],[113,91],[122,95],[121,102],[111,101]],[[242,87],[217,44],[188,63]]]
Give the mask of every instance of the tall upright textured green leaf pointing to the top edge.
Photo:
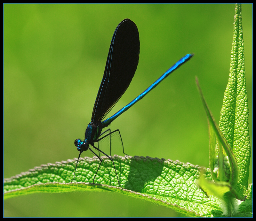
[[[236,4],[234,35],[231,50],[230,73],[220,112],[220,131],[231,147],[239,169],[239,194],[248,187],[251,145],[249,137],[249,108],[244,70],[244,39],[242,28],[242,6]]]

